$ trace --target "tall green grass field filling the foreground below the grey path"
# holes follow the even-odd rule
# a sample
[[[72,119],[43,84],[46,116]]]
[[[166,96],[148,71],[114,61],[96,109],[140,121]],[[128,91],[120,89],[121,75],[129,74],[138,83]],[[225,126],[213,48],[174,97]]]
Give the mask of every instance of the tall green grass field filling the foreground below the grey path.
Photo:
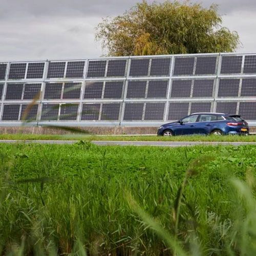
[[[0,153],[0,254],[256,253],[255,146]]]

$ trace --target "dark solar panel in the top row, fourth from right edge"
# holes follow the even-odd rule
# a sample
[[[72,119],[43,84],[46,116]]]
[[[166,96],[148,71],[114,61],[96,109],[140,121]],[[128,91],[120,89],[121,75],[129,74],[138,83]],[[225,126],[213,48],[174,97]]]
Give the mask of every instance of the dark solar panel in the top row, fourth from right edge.
[[[193,75],[194,57],[176,57],[174,75]]]

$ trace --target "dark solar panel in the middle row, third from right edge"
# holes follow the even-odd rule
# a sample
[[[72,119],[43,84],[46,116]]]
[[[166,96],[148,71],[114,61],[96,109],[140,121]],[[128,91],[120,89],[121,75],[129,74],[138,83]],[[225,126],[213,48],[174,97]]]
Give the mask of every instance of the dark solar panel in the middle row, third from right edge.
[[[193,97],[212,97],[212,90],[214,89],[214,80],[195,80]]]

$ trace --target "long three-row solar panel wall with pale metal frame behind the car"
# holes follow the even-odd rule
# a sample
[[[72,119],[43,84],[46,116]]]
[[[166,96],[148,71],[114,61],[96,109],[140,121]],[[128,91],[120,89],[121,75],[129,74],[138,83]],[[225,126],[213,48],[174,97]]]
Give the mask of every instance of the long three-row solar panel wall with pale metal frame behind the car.
[[[158,125],[195,112],[256,125],[256,54],[0,62],[0,99],[5,125],[22,121],[32,100],[26,121],[38,125]]]

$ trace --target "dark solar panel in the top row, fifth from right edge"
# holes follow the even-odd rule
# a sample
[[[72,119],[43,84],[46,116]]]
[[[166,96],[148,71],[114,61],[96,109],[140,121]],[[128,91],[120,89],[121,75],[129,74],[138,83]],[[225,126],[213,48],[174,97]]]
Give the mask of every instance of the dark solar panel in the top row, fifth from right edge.
[[[151,62],[151,76],[168,76],[170,72],[170,58],[155,58]]]

